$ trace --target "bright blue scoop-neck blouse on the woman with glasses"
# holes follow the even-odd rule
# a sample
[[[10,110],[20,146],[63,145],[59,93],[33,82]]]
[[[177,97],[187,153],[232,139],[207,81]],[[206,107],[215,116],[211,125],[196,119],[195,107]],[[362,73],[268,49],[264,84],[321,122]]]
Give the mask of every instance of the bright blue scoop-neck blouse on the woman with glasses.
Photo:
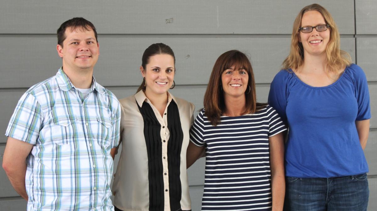
[[[368,172],[355,121],[371,118],[366,76],[356,64],[329,86],[303,83],[280,70],[271,83],[270,104],[288,125],[286,176],[328,178]]]

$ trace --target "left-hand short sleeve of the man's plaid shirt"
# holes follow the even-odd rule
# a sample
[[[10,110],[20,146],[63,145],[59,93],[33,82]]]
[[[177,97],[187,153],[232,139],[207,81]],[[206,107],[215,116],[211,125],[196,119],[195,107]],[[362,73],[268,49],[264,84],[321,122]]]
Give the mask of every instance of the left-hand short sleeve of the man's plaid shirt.
[[[41,124],[41,106],[31,92],[26,92],[18,101],[5,135],[29,144],[35,144],[39,137]]]

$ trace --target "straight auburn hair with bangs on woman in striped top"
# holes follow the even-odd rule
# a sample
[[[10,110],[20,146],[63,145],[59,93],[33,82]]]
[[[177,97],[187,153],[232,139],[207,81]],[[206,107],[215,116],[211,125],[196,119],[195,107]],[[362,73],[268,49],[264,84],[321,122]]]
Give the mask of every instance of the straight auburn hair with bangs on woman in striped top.
[[[212,125],[220,123],[222,113],[225,112],[224,93],[222,91],[222,73],[234,65],[234,69],[244,69],[248,74],[248,86],[245,92],[246,102],[243,114],[255,113],[259,107],[266,104],[256,102],[255,81],[253,68],[247,56],[239,50],[229,50],[221,54],[213,66],[207,90],[204,95],[205,116]]]

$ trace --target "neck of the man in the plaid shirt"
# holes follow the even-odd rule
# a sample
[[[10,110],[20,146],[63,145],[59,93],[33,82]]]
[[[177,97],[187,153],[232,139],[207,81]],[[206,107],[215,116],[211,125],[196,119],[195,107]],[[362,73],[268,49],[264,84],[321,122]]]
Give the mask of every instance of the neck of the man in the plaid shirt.
[[[93,69],[72,70],[63,66],[63,71],[68,76],[70,82],[79,89],[89,89],[92,84]]]

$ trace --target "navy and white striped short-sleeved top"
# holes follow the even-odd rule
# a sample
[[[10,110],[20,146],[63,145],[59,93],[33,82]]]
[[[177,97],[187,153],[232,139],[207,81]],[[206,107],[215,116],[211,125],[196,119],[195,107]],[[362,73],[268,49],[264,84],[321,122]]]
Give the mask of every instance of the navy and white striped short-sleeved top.
[[[287,127],[269,105],[254,114],[221,116],[213,126],[204,109],[190,141],[205,149],[202,210],[271,210],[268,137]]]

